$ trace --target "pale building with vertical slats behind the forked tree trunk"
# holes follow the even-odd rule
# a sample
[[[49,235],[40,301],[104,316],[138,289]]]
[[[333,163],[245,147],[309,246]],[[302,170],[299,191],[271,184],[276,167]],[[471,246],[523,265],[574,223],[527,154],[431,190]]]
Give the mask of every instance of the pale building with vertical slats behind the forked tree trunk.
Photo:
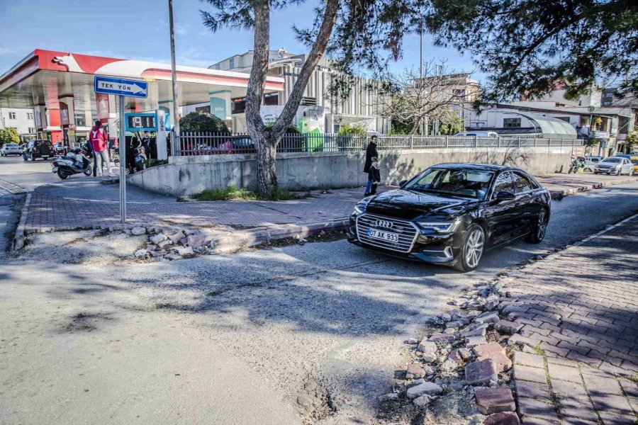
[[[265,94],[262,100],[261,115],[264,121],[276,120],[289,99],[307,55],[292,55],[284,49],[271,50],[269,55],[270,77],[284,79],[284,91]],[[242,55],[234,55],[211,65],[210,69],[250,73],[252,50]],[[344,125],[354,125],[369,132],[389,132],[391,121],[376,115],[377,91],[371,88],[373,81],[356,78],[349,96],[345,99],[330,96],[330,84],[334,71],[328,60],[320,60],[301,99],[294,124],[302,132],[337,132]],[[231,98],[233,131],[247,130],[245,117],[245,98]],[[194,111],[215,113],[215,106],[198,103],[184,106],[184,114]]]

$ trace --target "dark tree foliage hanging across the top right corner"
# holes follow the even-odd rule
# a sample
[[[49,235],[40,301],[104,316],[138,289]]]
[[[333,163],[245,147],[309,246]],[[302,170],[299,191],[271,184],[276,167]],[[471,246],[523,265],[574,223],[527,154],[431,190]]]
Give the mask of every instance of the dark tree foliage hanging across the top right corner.
[[[488,75],[483,101],[541,96],[557,82],[576,98],[604,79],[638,94],[635,1],[431,0],[425,23],[436,45],[471,52]]]

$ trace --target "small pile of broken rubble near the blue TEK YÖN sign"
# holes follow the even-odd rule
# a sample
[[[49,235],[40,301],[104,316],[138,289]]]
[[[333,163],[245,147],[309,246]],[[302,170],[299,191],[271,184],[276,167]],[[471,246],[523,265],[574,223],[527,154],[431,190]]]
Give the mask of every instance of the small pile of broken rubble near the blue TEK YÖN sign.
[[[135,251],[135,258],[149,261],[172,261],[195,256],[213,254],[214,236],[194,229],[166,229],[159,227],[133,227],[133,236],[148,234],[145,248]]]

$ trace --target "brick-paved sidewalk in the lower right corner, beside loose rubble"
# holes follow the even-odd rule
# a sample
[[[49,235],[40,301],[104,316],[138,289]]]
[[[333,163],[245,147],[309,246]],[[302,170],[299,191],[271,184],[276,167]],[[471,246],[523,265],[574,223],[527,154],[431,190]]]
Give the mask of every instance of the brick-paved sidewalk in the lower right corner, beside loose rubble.
[[[523,424],[636,424],[638,217],[525,268],[500,305]],[[533,348],[530,348],[533,347]]]

